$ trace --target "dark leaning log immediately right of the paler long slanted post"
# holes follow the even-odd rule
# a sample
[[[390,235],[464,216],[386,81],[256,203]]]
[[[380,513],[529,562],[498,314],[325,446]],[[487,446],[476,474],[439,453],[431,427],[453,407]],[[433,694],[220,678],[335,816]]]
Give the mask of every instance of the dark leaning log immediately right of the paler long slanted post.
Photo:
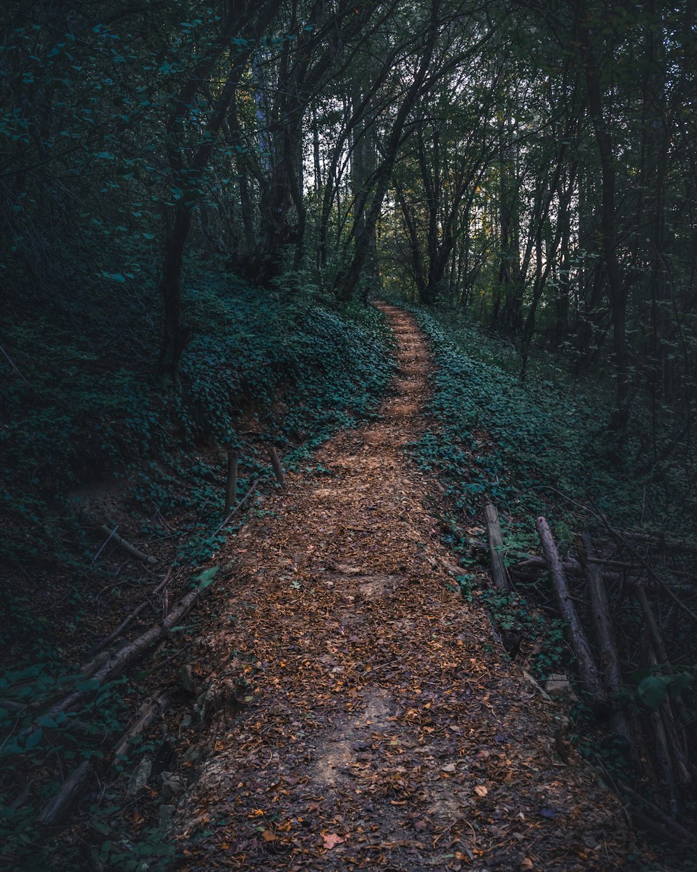
[[[619,667],[612,617],[610,616],[610,602],[607,598],[603,573],[598,563],[590,562],[590,558],[593,556],[593,546],[589,534],[584,533],[580,537],[578,547],[580,562],[585,565],[585,577],[591,595],[591,617],[599,647],[600,668],[611,693],[617,694],[622,689],[624,682]],[[614,732],[623,736],[631,746],[634,746],[632,728],[626,718],[626,713],[617,702],[612,703],[610,718]]]

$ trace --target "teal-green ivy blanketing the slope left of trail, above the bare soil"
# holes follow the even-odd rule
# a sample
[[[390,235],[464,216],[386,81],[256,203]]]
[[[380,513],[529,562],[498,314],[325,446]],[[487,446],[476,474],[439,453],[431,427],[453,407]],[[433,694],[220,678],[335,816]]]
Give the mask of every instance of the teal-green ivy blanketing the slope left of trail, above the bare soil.
[[[374,310],[329,310],[302,296],[283,302],[203,274],[186,304],[193,338],[176,392],[153,381],[153,361],[142,353],[122,357],[116,343],[93,350],[95,337],[113,338],[99,307],[78,336],[67,315],[9,320],[4,347],[23,378],[0,362],[8,385],[2,510],[16,529],[3,543],[6,559],[50,553],[84,569],[93,546],[70,514],[71,496],[85,480],[110,479],[123,482],[125,499],[142,510],[146,534],[161,532],[145,521],[153,508],[161,516],[195,513],[182,533],[186,557],[202,559],[218,542],[206,531],[220,522],[224,499],[216,450],[241,445],[240,427],[255,420],[292,467],[337,427],[369,416],[389,377]],[[131,315],[118,317],[117,337]],[[146,324],[128,335],[136,347],[154,344]],[[247,479],[264,473],[267,460],[251,450],[242,460]]]

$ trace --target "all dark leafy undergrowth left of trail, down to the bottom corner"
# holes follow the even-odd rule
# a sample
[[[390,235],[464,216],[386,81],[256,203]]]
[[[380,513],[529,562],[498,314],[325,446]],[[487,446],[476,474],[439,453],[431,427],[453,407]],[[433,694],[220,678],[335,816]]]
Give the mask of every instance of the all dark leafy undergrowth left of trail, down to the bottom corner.
[[[392,371],[388,331],[372,308],[321,304],[282,283],[251,288],[200,264],[190,272],[192,338],[176,390],[156,378],[158,307],[145,287],[125,283],[117,296],[91,284],[44,310],[17,294],[3,324],[0,856],[18,872],[81,866],[78,853],[51,848],[37,814],[140,701],[138,681],[108,685],[79,724],[44,718],[27,732],[42,699],[85,687],[74,664],[105,635],[105,610],[132,608],[124,590],[152,589],[143,564],[103,552],[99,526],[120,525],[175,567],[209,560],[236,528],[220,528],[227,450],[240,450],[239,499],[254,479],[272,480],[267,445],[287,469],[300,467],[331,433],[371,418]],[[46,766],[54,774],[27,800],[28,773]],[[111,789],[94,798],[91,863],[159,868],[169,854],[161,834],[133,843],[118,823],[120,802]]]

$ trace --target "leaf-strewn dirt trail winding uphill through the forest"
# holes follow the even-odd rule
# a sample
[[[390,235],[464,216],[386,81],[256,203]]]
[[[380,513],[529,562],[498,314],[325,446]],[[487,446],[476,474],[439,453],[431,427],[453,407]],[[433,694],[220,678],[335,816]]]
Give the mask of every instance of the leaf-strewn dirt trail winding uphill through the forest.
[[[327,472],[291,476],[221,555],[236,569],[192,652],[208,756],[178,868],[630,868],[615,800],[555,753],[558,709],[441,569],[432,483],[403,452],[428,353],[380,308],[399,362],[382,417],[324,446]]]

